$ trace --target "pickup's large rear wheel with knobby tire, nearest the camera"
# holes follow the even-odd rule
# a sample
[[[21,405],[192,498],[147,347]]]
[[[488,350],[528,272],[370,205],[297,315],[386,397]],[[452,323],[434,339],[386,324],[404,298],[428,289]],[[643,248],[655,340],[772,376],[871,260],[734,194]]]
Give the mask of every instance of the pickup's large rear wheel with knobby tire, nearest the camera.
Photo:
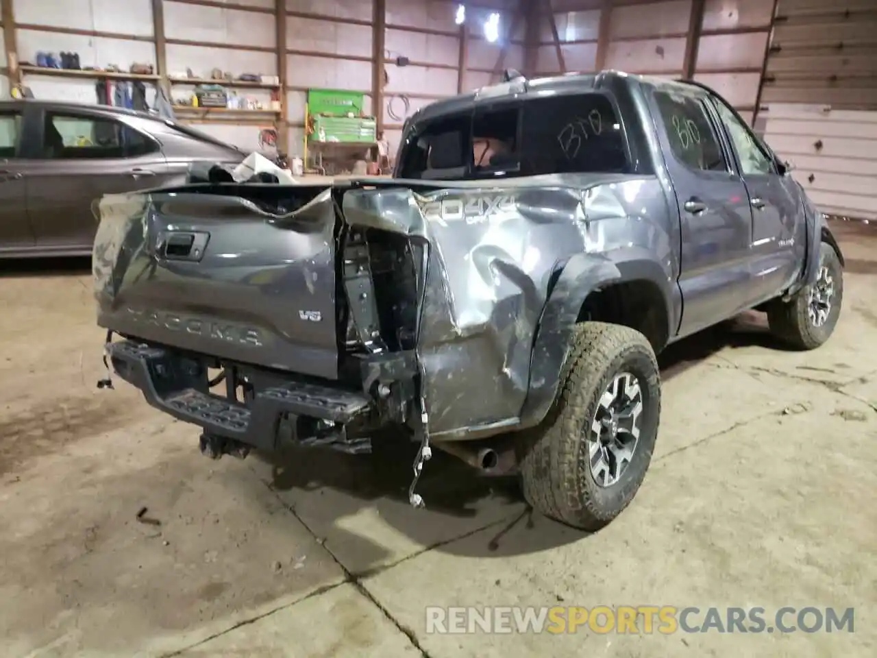
[[[576,325],[560,393],[521,464],[524,497],[545,516],[595,531],[645,478],[660,419],[660,373],[642,333]]]

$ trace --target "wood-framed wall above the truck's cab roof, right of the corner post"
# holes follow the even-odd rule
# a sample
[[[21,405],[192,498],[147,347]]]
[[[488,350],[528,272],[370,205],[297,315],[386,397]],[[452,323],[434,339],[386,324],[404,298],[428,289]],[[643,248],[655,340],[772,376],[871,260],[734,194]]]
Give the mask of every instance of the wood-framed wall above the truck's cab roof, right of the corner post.
[[[553,0],[550,6],[541,18],[537,75],[617,68],[690,76],[752,121],[773,0]]]

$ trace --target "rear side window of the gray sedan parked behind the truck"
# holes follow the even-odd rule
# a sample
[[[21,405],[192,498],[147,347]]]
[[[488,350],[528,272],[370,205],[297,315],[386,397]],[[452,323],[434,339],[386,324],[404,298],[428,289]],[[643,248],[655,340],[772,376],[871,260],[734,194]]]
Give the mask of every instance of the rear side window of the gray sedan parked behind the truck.
[[[46,113],[43,157],[52,160],[129,158],[158,150],[152,139],[120,121]]]

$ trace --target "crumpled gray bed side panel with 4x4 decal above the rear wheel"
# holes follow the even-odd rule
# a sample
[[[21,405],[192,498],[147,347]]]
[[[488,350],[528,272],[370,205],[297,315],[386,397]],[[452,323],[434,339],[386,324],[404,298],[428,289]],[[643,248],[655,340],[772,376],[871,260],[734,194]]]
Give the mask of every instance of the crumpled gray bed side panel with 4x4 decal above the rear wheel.
[[[545,302],[570,258],[591,254],[596,268],[613,252],[624,257],[639,248],[666,254],[673,267],[669,236],[659,224],[666,202],[655,179],[595,175],[514,183],[352,190],[343,199],[348,224],[431,246],[417,345],[433,436],[517,425]],[[599,269],[606,271],[617,270]],[[583,300],[587,291],[581,292]],[[545,368],[537,369],[538,385],[553,391],[560,366],[548,368],[553,381],[546,381]]]

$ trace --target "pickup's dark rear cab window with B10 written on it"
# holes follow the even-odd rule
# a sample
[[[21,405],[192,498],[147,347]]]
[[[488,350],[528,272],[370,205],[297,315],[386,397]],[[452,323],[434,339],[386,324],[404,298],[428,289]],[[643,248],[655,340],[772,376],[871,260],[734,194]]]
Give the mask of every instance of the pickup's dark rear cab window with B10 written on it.
[[[485,179],[567,173],[628,173],[624,129],[600,92],[503,100],[416,125],[400,175]]]

